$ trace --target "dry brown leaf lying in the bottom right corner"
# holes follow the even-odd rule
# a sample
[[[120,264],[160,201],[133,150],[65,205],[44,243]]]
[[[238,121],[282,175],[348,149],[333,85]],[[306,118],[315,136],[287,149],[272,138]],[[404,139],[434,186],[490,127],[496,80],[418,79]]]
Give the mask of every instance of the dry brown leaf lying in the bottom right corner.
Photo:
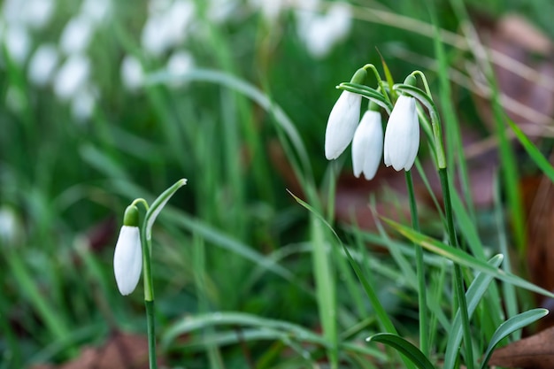
[[[506,368],[554,368],[554,327],[496,350],[489,364]]]

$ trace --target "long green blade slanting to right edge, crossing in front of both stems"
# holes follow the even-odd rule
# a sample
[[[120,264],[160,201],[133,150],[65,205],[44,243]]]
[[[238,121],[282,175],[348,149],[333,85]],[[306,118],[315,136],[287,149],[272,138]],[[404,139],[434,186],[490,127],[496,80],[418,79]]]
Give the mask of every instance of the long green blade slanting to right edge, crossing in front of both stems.
[[[504,270],[501,270],[492,265],[489,265],[484,260],[473,258],[473,256],[469,255],[465,251],[453,248],[445,243],[439,242],[431,237],[428,237],[425,234],[420,234],[419,232],[414,231],[412,228],[405,227],[399,223],[396,223],[393,220],[390,220],[390,219],[384,219],[384,220],[391,227],[394,227],[396,231],[400,232],[401,234],[404,234],[404,236],[409,240],[411,240],[412,242],[418,243],[419,245],[426,248],[427,250],[435,252],[435,254],[442,255],[444,258],[448,258],[452,260],[454,263],[467,266],[476,271],[488,273],[493,277],[495,277],[496,279],[504,281],[506,283],[510,283],[514,286],[525,288],[529,291],[536,292],[543,296],[554,298],[554,294],[551,293],[550,291],[544,288],[540,288],[531,282],[525,281],[524,279],[518,277],[517,275],[514,275],[512,273],[506,273]]]

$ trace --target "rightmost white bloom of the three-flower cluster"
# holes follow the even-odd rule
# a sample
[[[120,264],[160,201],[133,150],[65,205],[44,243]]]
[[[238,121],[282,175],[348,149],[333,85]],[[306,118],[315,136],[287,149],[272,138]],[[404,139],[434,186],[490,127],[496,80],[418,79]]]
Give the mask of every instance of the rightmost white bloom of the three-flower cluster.
[[[419,150],[419,120],[415,98],[399,96],[385,130],[385,165],[409,171]]]

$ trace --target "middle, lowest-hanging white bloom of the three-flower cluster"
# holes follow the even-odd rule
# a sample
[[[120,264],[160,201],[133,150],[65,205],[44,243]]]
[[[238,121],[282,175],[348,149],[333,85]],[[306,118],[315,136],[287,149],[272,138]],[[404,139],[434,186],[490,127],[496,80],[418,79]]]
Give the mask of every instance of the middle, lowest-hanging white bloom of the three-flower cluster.
[[[361,173],[367,181],[377,173],[383,153],[383,127],[379,111],[365,111],[352,139],[352,166],[354,175]]]

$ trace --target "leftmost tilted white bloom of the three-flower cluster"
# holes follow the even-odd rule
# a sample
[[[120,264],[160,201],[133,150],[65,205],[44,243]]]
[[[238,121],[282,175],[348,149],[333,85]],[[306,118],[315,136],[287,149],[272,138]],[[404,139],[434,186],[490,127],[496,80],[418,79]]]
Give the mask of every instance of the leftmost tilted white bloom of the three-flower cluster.
[[[329,114],[325,131],[325,157],[338,158],[352,141],[359,121],[362,96],[342,91]]]

